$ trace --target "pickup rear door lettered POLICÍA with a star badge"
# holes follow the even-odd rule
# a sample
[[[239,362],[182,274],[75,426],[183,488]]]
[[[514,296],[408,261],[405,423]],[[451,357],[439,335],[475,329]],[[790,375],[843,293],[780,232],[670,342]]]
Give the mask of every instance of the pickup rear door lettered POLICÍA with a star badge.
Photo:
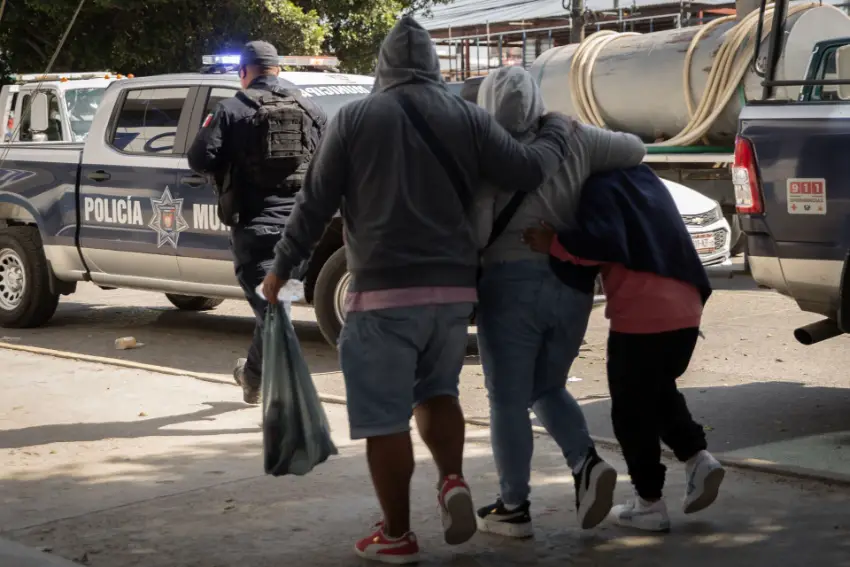
[[[95,283],[180,290],[177,250],[189,225],[177,184],[197,91],[107,93],[102,104],[114,102],[113,111],[108,124],[95,118],[80,175],[80,247]]]

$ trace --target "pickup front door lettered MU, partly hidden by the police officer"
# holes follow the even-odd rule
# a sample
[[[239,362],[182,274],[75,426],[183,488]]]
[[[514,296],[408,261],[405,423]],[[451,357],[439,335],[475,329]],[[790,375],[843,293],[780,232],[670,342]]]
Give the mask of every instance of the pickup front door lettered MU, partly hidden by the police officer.
[[[191,145],[204,120],[216,104],[238,92],[237,87],[203,87],[192,113],[188,132]],[[181,236],[177,263],[184,281],[211,286],[210,295],[241,297],[233,270],[230,231],[218,219],[213,180],[188,169],[181,174],[178,192],[184,203],[186,232]],[[227,288],[227,289],[224,289]]]

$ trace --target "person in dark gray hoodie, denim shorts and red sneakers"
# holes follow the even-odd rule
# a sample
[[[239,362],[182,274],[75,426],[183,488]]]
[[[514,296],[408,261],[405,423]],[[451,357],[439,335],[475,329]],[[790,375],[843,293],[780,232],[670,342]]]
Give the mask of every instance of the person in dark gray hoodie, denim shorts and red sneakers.
[[[410,418],[440,474],[437,500],[449,544],[475,533],[463,478],[458,378],[477,299],[474,197],[484,181],[532,191],[567,155],[569,120],[540,117],[528,144],[485,110],[449,92],[431,37],[410,17],[393,28],[373,92],[328,125],[276,250],[264,295],[307,258],[339,209],[352,275],[339,340],[351,436],[367,459],[383,521],[355,552],[412,563],[414,460]]]

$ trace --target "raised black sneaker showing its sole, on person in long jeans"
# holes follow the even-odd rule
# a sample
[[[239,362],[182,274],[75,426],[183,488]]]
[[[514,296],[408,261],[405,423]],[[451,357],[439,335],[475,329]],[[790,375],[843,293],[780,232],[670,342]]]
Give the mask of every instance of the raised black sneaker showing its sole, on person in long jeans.
[[[617,471],[591,448],[581,470],[573,474],[576,490],[576,512],[583,530],[595,528],[608,517],[614,505]]]

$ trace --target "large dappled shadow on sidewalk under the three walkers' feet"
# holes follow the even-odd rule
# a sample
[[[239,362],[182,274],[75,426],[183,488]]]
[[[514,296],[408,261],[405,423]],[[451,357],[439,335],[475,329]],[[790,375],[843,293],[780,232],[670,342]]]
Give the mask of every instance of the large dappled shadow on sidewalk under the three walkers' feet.
[[[486,433],[475,430],[471,435]],[[343,447],[339,456],[306,477],[274,479],[260,474],[258,441],[257,437],[250,443],[220,442],[201,452],[187,448],[140,457],[135,464],[145,473],[135,478],[93,480],[73,469],[46,478],[7,478],[4,491],[20,496],[9,500],[18,508],[33,505],[27,498],[60,505],[63,499],[80,498],[80,493],[97,501],[102,492],[116,490],[134,493],[137,500],[148,498],[9,530],[3,537],[49,547],[92,567],[362,565],[353,557],[351,545],[367,533],[370,521],[379,518],[362,449]],[[476,447],[466,460],[467,477],[478,503],[484,504],[496,489],[492,460],[486,443],[471,445]],[[538,444],[534,462],[535,539],[506,541],[479,534],[464,546],[448,548],[434,513],[435,471],[420,456],[412,520],[423,547],[423,565],[850,565],[846,492],[828,493],[738,473],[727,482],[716,506],[695,518],[676,509],[683,483],[670,487],[671,534],[646,535],[608,524],[581,532],[576,528],[572,477],[548,442]],[[201,488],[183,483],[187,469],[227,467],[234,461],[251,461],[257,474]],[[677,471],[677,478],[680,474]],[[174,483],[170,492],[151,496],[149,487],[161,479]],[[618,496],[627,492],[621,480]]]

